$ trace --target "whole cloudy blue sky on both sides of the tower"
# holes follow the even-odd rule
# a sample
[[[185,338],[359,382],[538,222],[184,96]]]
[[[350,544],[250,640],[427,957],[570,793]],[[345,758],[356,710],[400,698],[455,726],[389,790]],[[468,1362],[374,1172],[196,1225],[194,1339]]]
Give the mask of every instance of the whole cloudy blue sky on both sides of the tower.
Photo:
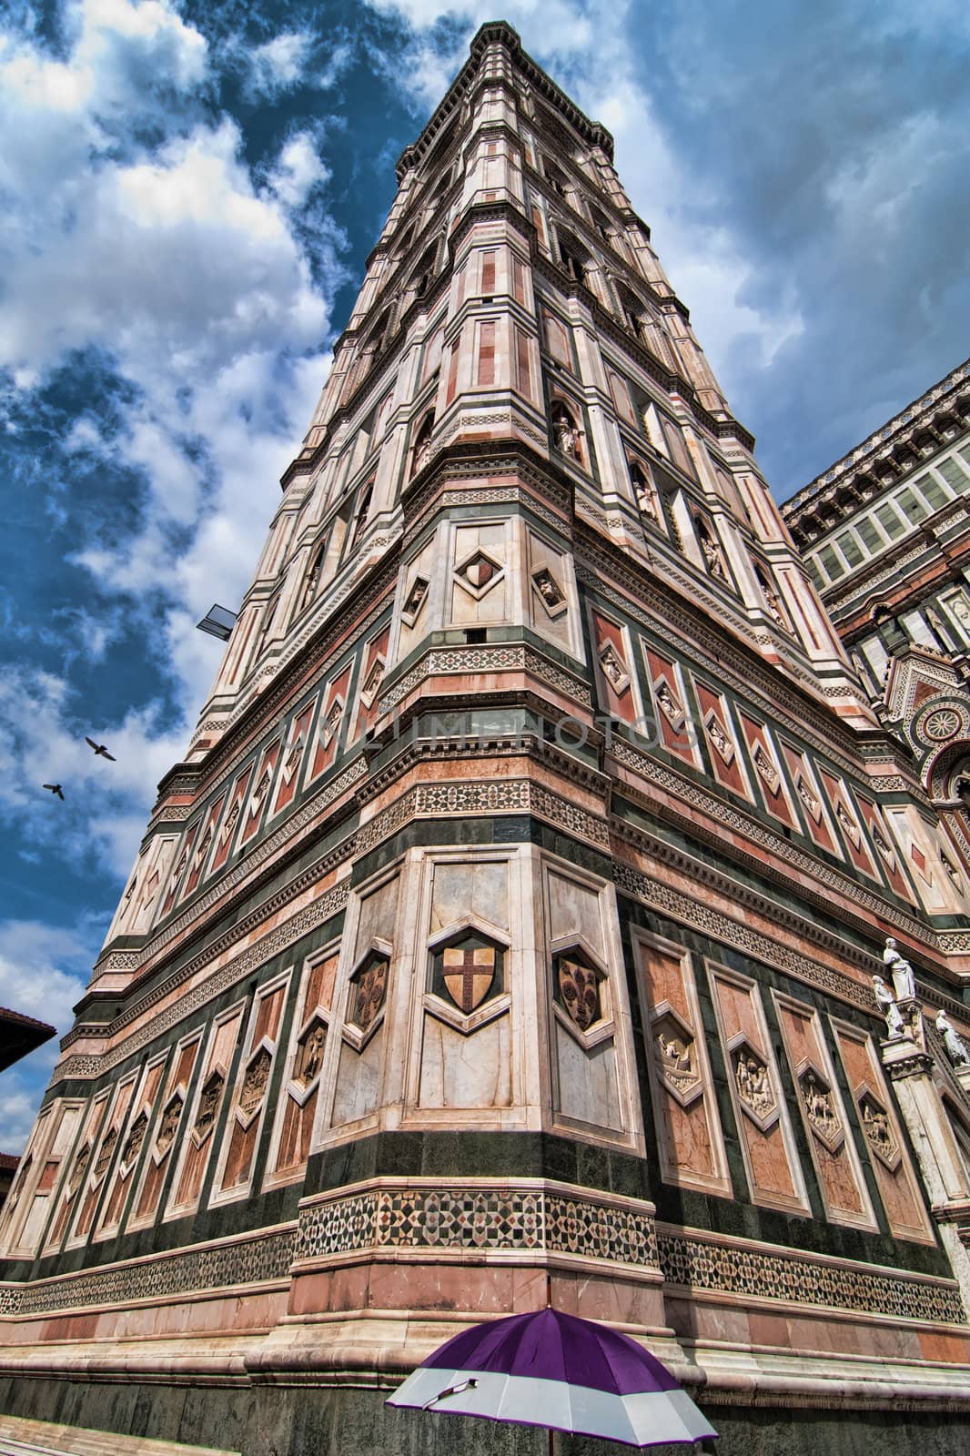
[[[969,352],[950,0],[7,0],[0,1005],[61,1034],[217,667],[194,623],[242,597],[393,162],[501,15],[613,131],[781,498]],[[52,1063],[0,1076],[0,1149]]]

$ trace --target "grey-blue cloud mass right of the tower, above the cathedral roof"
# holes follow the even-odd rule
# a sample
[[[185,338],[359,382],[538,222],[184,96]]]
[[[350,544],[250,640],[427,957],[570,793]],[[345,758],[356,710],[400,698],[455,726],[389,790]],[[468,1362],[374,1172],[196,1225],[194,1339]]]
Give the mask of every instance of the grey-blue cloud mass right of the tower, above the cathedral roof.
[[[969,352],[966,22],[788,0],[632,32],[682,207],[731,232],[738,301],[801,316],[770,364],[744,336],[715,360],[788,495]]]

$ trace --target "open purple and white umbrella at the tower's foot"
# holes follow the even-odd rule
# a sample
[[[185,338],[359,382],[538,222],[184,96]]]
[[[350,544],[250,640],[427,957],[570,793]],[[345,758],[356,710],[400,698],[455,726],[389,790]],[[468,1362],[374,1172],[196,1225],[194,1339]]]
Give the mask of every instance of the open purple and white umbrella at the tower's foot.
[[[555,1309],[494,1319],[454,1335],[408,1376],[387,1405],[548,1425],[625,1446],[717,1436],[642,1345]]]

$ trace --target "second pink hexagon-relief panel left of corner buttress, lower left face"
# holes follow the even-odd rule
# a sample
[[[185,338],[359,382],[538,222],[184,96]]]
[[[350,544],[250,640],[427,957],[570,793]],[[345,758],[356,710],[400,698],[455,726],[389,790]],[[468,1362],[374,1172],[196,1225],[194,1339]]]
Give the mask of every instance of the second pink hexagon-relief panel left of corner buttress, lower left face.
[[[290,973],[261,986],[249,1015],[246,1044],[236,1073],[236,1091],[229,1114],[210,1207],[240,1198],[249,1191],[259,1137],[267,1117],[269,1077],[280,1040],[283,1008]]]

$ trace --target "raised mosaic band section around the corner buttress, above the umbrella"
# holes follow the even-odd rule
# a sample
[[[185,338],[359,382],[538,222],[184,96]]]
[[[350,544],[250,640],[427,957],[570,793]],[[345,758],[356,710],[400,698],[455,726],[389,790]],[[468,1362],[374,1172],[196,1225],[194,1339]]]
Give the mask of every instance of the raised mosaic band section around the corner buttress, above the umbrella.
[[[368,1187],[301,1208],[296,1257],[376,1249],[535,1249],[655,1270],[650,1207],[618,1207],[540,1184]]]

